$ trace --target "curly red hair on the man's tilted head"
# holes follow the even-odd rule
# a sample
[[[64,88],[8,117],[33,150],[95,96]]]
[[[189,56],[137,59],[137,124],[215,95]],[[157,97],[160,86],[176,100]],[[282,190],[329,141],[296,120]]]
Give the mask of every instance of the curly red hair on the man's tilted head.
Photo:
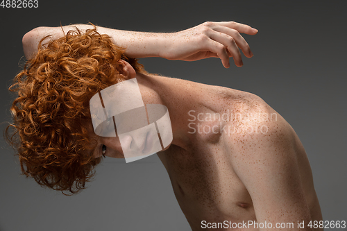
[[[85,33],[76,28],[42,45],[45,38],[9,88],[17,99],[5,135],[17,149],[24,175],[42,187],[76,194],[101,162],[91,153],[95,143],[85,126],[92,123],[90,99],[122,80],[119,60],[146,71],[95,26]]]

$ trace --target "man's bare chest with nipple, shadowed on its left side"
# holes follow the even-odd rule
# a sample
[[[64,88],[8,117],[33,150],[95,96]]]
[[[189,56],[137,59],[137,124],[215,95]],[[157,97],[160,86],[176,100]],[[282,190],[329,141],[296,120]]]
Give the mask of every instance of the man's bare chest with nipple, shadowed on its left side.
[[[201,142],[190,151],[174,146],[160,155],[166,160],[174,193],[185,214],[199,211],[208,217],[253,217],[251,197],[232,169],[231,153],[222,144]]]

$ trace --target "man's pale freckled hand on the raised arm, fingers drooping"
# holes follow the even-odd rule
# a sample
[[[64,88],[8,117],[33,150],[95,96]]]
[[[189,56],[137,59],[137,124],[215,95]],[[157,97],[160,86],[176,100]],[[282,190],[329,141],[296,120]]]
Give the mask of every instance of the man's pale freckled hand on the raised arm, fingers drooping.
[[[205,22],[185,31],[167,34],[167,45],[161,49],[160,57],[185,61],[218,57],[226,68],[230,67],[229,58],[232,57],[235,65],[242,67],[239,49],[248,58],[253,53],[240,33],[255,35],[257,29],[237,22]]]

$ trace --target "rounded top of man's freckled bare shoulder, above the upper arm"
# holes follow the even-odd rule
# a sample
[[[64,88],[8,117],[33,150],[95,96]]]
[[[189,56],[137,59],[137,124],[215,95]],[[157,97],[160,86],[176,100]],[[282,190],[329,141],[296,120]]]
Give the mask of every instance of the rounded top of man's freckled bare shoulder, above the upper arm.
[[[228,113],[228,148],[242,148],[240,144],[286,141],[295,143],[296,134],[287,121],[260,96],[249,92],[223,88],[224,112]]]

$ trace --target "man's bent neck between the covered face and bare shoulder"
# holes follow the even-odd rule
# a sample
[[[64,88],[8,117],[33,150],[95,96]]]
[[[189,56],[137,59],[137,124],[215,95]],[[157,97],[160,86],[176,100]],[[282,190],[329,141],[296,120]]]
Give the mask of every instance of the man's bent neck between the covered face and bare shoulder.
[[[178,78],[137,74],[137,82],[145,104],[165,105],[169,110],[173,141],[171,144],[189,149],[196,134],[189,133],[189,111],[197,114],[209,110],[217,112],[215,102],[209,101],[215,95],[214,86],[194,83]]]

